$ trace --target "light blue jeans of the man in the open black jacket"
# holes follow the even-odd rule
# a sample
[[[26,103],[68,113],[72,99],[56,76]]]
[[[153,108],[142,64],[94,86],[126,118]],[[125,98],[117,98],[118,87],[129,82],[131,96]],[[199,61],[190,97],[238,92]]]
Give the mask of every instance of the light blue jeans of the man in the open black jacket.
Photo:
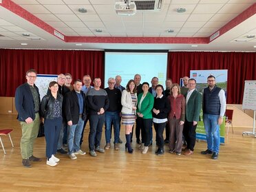
[[[74,153],[80,149],[83,122],[83,119],[79,118],[76,125],[67,125],[67,145],[69,154]]]

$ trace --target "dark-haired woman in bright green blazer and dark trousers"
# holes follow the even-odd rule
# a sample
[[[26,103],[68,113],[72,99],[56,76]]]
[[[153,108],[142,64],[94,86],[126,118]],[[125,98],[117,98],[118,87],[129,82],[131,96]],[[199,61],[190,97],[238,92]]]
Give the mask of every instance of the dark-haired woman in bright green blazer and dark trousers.
[[[152,126],[153,95],[149,92],[149,83],[142,83],[142,93],[138,95],[138,127],[141,128],[142,144],[139,149],[147,153],[150,145],[150,129]]]

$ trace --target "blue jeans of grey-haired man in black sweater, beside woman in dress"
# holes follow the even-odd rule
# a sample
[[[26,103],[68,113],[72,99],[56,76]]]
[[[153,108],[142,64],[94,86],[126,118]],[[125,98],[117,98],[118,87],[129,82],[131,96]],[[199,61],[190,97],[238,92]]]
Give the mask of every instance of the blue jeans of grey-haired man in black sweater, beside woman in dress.
[[[106,111],[105,112],[105,138],[106,143],[110,143],[111,140],[111,122],[114,126],[114,143],[118,143],[119,140],[119,127],[120,118],[118,111]]]

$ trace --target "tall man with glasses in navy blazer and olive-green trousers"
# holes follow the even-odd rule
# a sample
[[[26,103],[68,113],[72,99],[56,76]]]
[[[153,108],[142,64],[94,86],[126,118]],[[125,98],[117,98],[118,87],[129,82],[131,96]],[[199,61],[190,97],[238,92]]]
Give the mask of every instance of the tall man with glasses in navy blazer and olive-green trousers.
[[[27,83],[20,85],[15,92],[15,107],[21,124],[21,156],[24,167],[32,167],[30,162],[39,162],[40,158],[33,156],[34,140],[39,134],[40,95],[39,88],[34,85],[36,71],[28,70],[25,78]]]

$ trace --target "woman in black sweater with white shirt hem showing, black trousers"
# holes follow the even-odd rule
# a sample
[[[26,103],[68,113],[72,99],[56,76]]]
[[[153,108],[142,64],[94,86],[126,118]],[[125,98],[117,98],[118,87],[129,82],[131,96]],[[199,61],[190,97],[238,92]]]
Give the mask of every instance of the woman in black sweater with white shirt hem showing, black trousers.
[[[162,134],[167,124],[167,116],[171,109],[167,96],[162,94],[163,90],[164,87],[162,87],[162,85],[156,85],[156,97],[153,103],[153,127],[155,127],[156,130],[156,145],[158,145],[156,155],[158,156],[164,153],[164,137]]]

